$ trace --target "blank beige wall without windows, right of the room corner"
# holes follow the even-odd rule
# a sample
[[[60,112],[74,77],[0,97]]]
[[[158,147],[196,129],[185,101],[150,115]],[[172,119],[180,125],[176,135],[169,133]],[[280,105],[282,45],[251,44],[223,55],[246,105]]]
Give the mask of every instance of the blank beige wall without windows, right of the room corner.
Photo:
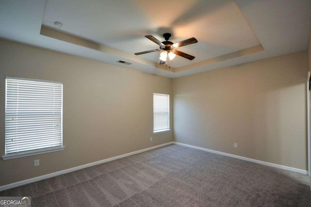
[[[306,170],[307,68],[304,51],[174,79],[175,141]]]

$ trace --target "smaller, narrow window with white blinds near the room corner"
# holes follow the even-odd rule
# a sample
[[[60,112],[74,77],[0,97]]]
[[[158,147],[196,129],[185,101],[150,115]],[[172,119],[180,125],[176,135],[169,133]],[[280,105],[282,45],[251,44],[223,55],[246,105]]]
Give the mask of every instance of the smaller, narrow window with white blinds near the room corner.
[[[154,133],[170,130],[170,95],[154,94]]]

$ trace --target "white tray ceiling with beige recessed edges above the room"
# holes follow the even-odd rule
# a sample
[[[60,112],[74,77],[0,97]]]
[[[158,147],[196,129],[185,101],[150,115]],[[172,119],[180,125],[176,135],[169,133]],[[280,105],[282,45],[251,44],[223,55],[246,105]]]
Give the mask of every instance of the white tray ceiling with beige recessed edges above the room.
[[[306,50],[311,0],[1,0],[0,21],[3,39],[176,78]],[[178,48],[195,59],[169,68],[160,52],[134,55],[159,48],[144,35],[165,32],[195,37]]]

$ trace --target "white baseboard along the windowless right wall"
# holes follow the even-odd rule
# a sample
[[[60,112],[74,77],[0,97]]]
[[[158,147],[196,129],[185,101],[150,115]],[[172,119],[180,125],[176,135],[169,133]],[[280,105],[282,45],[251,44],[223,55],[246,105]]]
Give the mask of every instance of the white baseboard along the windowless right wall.
[[[301,174],[304,174],[304,175],[308,175],[308,171],[306,171],[306,170],[301,170],[301,169],[297,169],[297,168],[293,168],[293,167],[287,167],[287,166],[284,166],[284,165],[278,165],[278,164],[274,164],[274,163],[270,163],[270,162],[260,161],[258,159],[245,158],[245,157],[242,157],[242,156],[232,155],[232,154],[225,153],[225,152],[219,152],[219,151],[216,151],[216,150],[211,150],[211,149],[207,149],[207,148],[203,148],[203,147],[193,146],[193,145],[190,145],[190,144],[177,143],[177,142],[173,142],[173,143],[178,144],[178,145],[182,145],[182,146],[191,147],[191,148],[194,148],[194,149],[199,149],[199,150],[203,150],[203,151],[219,154],[219,155],[224,155],[224,156],[231,157],[231,158],[242,159],[242,160],[246,160],[246,161],[250,161],[250,162],[255,162],[255,163],[258,163],[258,164],[262,164],[262,165],[267,165],[267,166],[270,166],[270,167],[276,167],[276,168],[279,168],[279,169],[289,170],[289,171],[293,171],[293,172],[296,172],[296,173],[301,173]]]

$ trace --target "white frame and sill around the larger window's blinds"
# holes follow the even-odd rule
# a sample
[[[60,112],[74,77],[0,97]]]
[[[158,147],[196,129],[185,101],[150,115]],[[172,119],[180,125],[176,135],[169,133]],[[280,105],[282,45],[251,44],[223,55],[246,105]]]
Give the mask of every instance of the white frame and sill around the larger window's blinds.
[[[38,154],[43,154],[43,153],[50,153],[50,152],[55,152],[55,151],[61,151],[64,150],[64,143],[63,143],[63,83],[59,81],[50,81],[50,80],[39,80],[39,79],[28,79],[28,78],[18,78],[18,77],[11,77],[11,76],[6,76],[5,77],[5,124],[6,124],[6,118],[7,118],[7,80],[26,80],[26,81],[36,81],[40,83],[55,83],[55,84],[61,84],[61,145],[55,146],[55,147],[45,147],[45,148],[38,148],[38,149],[32,149],[32,150],[26,150],[26,151],[21,151],[21,152],[12,152],[12,153],[7,153],[7,146],[6,146],[6,140],[4,141],[4,151],[5,155],[2,156],[2,159],[15,159],[15,158],[21,158],[21,157],[27,157],[27,156],[32,156],[32,155],[38,155]],[[59,111],[59,110],[58,110]],[[6,139],[6,133],[4,136],[4,139]]]

